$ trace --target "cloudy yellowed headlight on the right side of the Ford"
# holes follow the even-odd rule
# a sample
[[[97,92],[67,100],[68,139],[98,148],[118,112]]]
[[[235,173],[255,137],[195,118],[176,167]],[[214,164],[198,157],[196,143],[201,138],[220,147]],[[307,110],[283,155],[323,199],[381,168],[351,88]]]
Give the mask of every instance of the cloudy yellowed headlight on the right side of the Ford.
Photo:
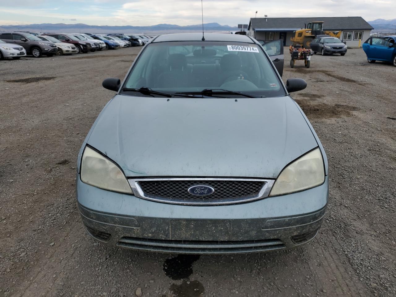
[[[286,166],[272,186],[269,196],[298,192],[324,182],[323,157],[319,148]]]

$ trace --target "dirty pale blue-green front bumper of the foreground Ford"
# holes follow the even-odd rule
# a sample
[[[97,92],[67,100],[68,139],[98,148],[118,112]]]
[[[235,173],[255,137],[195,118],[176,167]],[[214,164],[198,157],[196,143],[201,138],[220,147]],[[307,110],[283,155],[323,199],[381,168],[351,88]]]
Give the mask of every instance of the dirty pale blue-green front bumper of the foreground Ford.
[[[82,221],[96,240],[166,253],[252,253],[285,249],[314,238],[328,200],[323,185],[249,203],[183,206],[86,185],[77,176]]]

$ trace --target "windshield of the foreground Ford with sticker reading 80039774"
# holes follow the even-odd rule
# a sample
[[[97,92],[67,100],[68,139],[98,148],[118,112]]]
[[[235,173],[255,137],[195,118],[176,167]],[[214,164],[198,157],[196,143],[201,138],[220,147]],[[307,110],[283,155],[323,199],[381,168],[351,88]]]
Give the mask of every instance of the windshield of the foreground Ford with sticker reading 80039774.
[[[227,89],[258,97],[285,95],[263,50],[241,42],[149,44],[123,87],[166,93]]]

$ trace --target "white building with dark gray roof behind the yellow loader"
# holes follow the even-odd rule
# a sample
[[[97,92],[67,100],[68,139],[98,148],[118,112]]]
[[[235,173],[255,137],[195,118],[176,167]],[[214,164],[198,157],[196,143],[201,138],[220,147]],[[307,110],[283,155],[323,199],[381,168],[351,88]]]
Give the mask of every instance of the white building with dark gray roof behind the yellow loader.
[[[284,46],[289,46],[293,31],[313,21],[324,21],[324,31],[341,30],[340,39],[349,47],[362,46],[374,29],[362,17],[265,17],[251,18],[247,35],[265,41],[283,39]]]

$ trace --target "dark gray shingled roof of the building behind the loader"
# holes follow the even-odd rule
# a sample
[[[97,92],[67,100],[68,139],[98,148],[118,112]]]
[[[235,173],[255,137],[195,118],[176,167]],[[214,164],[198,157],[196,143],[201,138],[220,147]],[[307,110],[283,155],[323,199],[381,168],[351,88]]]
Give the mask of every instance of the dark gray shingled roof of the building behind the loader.
[[[267,19],[267,21],[266,21]],[[374,29],[362,17],[267,17],[251,18],[253,30],[270,28],[304,28],[304,24],[324,21],[324,30],[372,30]]]

